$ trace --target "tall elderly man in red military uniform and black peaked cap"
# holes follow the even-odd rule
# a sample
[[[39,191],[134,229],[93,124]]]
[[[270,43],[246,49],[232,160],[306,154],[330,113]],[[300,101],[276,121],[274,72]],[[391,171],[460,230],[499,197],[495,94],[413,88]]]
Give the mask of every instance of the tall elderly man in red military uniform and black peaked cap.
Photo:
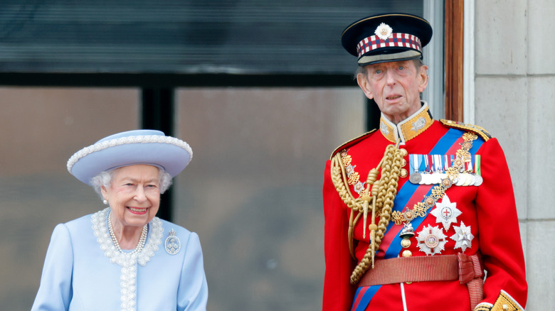
[[[381,121],[326,165],[323,310],[524,310],[503,151],[479,126],[435,121],[421,101],[431,36],[423,18],[398,13],[342,35]]]

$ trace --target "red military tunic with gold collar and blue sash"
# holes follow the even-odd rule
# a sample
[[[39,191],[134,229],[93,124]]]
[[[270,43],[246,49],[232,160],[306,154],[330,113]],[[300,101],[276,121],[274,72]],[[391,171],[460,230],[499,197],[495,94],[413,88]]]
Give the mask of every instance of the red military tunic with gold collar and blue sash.
[[[407,163],[404,168],[413,172],[418,167],[411,169],[410,165],[420,165],[420,171],[423,172],[423,168],[432,168],[433,165],[418,163],[416,155],[421,159],[430,159],[431,162],[435,155],[448,163],[450,155],[455,155],[461,148],[460,143],[465,132],[433,121],[427,104],[424,103],[419,111],[397,126],[382,116],[380,131],[355,138],[337,148],[334,155],[339,152],[350,155],[354,171],[359,173],[360,181],[364,182],[369,171],[384,156],[386,146],[400,138],[399,148],[408,151],[404,158]],[[410,251],[409,256],[481,253],[487,278],[483,285],[483,299],[476,310],[490,310],[498,298],[509,300],[509,305],[516,306],[509,310],[519,310],[518,307],[523,310],[527,300],[527,283],[509,169],[497,140],[490,139],[485,133],[480,134],[472,142],[469,152],[472,159],[477,158],[475,155],[480,156],[481,185],[453,185],[448,188],[445,195],[435,202],[435,206],[428,209],[425,217],[412,220],[415,236],[410,239],[411,245],[408,248],[400,245],[401,238],[398,237],[403,226],[390,221],[376,253],[376,261],[401,257],[403,251],[407,250]],[[475,162],[473,160],[472,165]],[[326,261],[323,310],[471,310],[469,290],[459,280],[363,287],[349,283],[356,266],[356,261],[349,252],[347,235],[351,209],[338,195],[330,175],[330,166],[331,162],[328,160],[323,188]],[[425,195],[430,195],[430,189],[435,186],[415,185],[408,179],[406,176],[398,180],[394,211],[403,212],[406,207],[412,208]],[[353,185],[350,190],[356,197]],[[449,209],[453,213],[447,220],[440,217],[442,207],[453,207]],[[438,211],[433,212],[434,209]],[[376,223],[378,220],[376,218]],[[370,220],[367,225],[369,223]],[[444,237],[440,247],[435,249],[430,249],[422,242],[432,229],[436,235]],[[470,234],[466,232],[462,236],[463,231],[470,231]],[[369,241],[369,230],[366,230],[366,238],[363,238],[363,222],[357,222],[354,229],[354,253],[358,261],[369,248]],[[371,268],[366,273],[372,273]]]

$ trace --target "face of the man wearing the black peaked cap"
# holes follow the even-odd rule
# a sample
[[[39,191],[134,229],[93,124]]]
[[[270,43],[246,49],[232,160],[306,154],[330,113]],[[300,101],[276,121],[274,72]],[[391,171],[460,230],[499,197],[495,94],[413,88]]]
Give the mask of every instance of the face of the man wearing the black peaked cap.
[[[357,75],[359,86],[380,111],[395,124],[421,107],[420,93],[428,85],[428,67],[416,68],[413,60],[366,65],[366,73]]]

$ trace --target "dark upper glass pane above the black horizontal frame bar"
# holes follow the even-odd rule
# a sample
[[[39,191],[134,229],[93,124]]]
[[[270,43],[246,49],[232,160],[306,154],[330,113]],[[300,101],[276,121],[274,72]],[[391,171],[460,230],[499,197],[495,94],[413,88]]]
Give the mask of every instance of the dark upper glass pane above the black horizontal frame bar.
[[[2,72],[342,73],[357,18],[413,0],[3,0]],[[325,64],[325,65],[323,65]]]

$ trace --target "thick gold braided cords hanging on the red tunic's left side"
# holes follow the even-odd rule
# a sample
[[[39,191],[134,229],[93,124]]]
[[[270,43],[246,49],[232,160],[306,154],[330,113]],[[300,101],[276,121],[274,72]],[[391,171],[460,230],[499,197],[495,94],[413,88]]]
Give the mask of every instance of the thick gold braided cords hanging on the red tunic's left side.
[[[351,274],[352,284],[358,283],[361,276],[364,275],[369,267],[374,266],[374,253],[378,251],[381,239],[384,237],[387,225],[391,219],[393,200],[397,195],[399,173],[402,166],[401,160],[405,155],[406,151],[400,150],[398,146],[387,146],[384,158],[381,159],[381,162],[376,168],[370,171],[366,180],[366,190],[361,193],[361,197],[358,199],[354,198],[351,190],[349,190],[347,186],[347,174],[342,164],[341,155],[338,153],[332,158],[332,182],[334,183],[339,197],[341,197],[343,202],[347,204],[347,207],[351,209],[351,217],[349,218],[349,251],[351,252],[351,257],[355,260],[356,257],[354,256],[353,246],[354,225],[360,219],[361,214],[366,214],[364,206],[366,205],[366,207],[368,207],[370,200],[372,201],[372,224],[369,226],[369,229],[371,229],[371,244],[369,244],[369,248],[366,250],[364,257]],[[378,168],[381,168],[381,176],[379,180],[376,180]],[[370,187],[371,196],[369,195]],[[380,220],[376,227],[374,224],[375,213],[380,210]],[[353,217],[354,212],[359,212],[355,218]],[[366,222],[364,227],[366,227]]]

